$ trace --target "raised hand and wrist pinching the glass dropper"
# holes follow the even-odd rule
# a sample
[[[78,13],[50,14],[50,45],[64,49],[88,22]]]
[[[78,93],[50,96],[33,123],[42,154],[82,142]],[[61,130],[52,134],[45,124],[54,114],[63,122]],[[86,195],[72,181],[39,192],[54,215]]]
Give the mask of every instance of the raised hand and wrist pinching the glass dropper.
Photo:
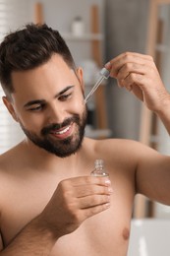
[[[170,105],[170,95],[151,56],[125,52],[110,60],[105,67],[121,88],[134,93],[148,109],[159,113],[164,105]]]

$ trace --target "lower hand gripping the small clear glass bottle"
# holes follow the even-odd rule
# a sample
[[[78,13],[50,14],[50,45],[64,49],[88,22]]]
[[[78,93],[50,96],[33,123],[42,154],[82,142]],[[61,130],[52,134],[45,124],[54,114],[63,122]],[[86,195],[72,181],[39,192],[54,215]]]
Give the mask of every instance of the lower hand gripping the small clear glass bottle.
[[[76,177],[61,181],[41,214],[57,238],[76,230],[85,219],[110,207],[108,177]]]

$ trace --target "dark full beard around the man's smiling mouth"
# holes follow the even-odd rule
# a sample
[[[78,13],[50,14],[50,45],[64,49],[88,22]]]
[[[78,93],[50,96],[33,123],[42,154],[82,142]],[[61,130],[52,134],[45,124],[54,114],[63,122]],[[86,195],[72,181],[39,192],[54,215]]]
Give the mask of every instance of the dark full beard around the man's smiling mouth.
[[[28,139],[37,147],[44,149],[48,153],[54,154],[59,158],[66,158],[72,154],[77,153],[83,143],[85,136],[85,124],[86,124],[86,108],[82,115],[82,118],[78,114],[74,114],[72,117],[67,118],[61,124],[50,124],[40,131],[40,136],[28,131],[26,127],[20,122],[20,125],[28,137]],[[50,133],[66,127],[70,124],[76,124],[76,131],[71,136],[63,140],[56,140],[51,138]]]

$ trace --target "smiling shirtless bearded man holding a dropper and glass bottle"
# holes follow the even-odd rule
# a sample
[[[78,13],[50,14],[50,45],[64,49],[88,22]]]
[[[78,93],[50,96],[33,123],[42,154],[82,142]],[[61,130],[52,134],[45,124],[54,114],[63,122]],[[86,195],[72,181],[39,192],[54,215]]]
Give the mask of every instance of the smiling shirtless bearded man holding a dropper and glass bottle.
[[[151,57],[124,53],[106,68],[170,131],[170,96]],[[84,138],[83,71],[45,25],[5,38],[0,81],[26,134],[0,157],[0,256],[125,256],[135,195],[170,205],[170,158],[134,141]],[[96,159],[109,178],[89,175]]]

